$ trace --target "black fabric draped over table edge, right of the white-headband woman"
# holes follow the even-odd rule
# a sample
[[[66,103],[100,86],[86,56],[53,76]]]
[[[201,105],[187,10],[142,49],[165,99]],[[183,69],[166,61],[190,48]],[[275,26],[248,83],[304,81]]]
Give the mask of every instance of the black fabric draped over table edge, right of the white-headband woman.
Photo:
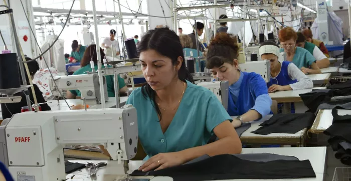
[[[347,96],[351,95],[351,87],[345,87],[342,89],[321,89],[314,90],[305,94],[300,94],[303,104],[308,108],[306,112],[315,113],[320,104],[343,104],[344,101],[332,101],[332,97],[336,96]]]

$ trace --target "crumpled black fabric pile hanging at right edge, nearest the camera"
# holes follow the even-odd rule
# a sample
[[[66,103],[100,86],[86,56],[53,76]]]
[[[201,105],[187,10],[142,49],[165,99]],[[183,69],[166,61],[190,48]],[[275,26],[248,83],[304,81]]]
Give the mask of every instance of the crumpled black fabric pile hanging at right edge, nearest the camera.
[[[341,107],[331,110],[333,122],[324,134],[330,136],[328,143],[336,151],[335,158],[340,159],[343,164],[351,165],[351,115],[338,115],[339,108]]]

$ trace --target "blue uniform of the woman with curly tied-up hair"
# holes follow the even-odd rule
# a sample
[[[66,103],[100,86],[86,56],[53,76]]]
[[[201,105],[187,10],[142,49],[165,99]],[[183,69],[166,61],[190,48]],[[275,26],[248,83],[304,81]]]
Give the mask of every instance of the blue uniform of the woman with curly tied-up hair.
[[[237,82],[229,86],[228,113],[240,116],[253,109],[262,117],[271,113],[272,99],[266,82],[254,72],[240,72]]]

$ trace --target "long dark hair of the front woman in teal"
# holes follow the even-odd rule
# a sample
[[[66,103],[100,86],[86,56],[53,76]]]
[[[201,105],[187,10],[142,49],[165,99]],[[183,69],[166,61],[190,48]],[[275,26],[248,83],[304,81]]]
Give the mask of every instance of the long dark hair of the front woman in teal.
[[[178,57],[183,58],[183,63],[181,69],[178,71],[178,78],[181,81],[188,80],[194,83],[193,76],[189,73],[185,66],[185,58],[183,53],[183,47],[181,41],[177,34],[168,28],[156,28],[154,30],[149,30],[146,35],[144,35],[138,46],[138,54],[147,50],[154,50],[161,54],[162,56],[168,57],[173,65],[177,65]],[[141,92],[144,97],[149,97],[153,101],[153,106],[156,109],[157,114],[162,119],[161,112],[157,106],[155,99],[155,91],[152,90],[149,84],[141,87]]]

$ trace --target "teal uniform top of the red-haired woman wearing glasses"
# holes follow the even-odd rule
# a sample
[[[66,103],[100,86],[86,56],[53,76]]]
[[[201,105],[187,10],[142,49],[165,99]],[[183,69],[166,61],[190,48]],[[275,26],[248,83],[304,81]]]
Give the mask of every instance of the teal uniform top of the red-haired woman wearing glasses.
[[[284,49],[280,49],[280,52],[284,52]],[[296,47],[295,55],[292,59],[292,63],[294,63],[296,67],[299,69],[302,67],[308,68],[313,62],[316,62],[316,59],[311,53],[304,48]]]

